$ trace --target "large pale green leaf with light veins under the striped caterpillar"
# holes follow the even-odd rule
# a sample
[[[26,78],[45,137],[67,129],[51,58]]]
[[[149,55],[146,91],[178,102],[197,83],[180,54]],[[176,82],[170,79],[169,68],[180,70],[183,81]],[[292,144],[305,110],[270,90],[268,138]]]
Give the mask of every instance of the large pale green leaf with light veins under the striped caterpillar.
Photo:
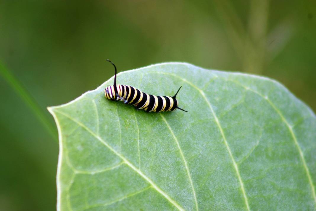
[[[182,86],[188,112],[107,100],[113,78],[49,108],[58,210],[315,210],[316,118],[281,84],[186,63],[117,81],[161,96]]]

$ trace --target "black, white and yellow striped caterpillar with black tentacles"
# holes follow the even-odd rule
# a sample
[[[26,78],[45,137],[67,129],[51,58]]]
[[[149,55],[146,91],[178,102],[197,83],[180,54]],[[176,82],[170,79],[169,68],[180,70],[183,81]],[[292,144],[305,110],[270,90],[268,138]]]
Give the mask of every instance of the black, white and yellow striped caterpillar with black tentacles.
[[[106,61],[111,62],[109,59]],[[181,89],[177,91],[174,96],[155,96],[144,93],[132,86],[116,84],[116,66],[111,62],[115,68],[114,84],[105,88],[105,96],[112,101],[124,101],[136,107],[137,110],[144,109],[146,112],[161,112],[161,111],[174,111],[180,109],[176,96]],[[185,111],[187,112],[187,111]]]

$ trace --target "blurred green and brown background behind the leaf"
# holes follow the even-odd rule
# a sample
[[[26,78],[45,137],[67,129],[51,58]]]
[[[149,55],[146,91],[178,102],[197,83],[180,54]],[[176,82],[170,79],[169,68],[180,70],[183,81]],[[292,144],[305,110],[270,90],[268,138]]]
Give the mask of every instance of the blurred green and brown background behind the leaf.
[[[105,59],[119,71],[185,61],[264,75],[315,111],[316,1],[0,0],[1,210],[55,209],[46,107],[110,78]]]

